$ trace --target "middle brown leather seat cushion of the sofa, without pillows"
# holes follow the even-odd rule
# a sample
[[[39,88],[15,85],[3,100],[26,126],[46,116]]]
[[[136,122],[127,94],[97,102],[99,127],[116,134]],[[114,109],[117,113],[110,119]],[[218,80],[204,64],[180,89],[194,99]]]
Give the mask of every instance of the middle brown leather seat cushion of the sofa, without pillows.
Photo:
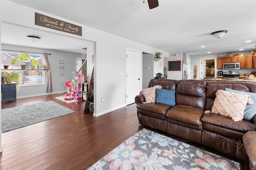
[[[167,111],[166,117],[176,121],[180,121],[182,123],[202,126],[202,122],[200,121],[200,119],[203,113],[204,113],[204,110],[197,107],[186,106],[186,105],[175,105]]]

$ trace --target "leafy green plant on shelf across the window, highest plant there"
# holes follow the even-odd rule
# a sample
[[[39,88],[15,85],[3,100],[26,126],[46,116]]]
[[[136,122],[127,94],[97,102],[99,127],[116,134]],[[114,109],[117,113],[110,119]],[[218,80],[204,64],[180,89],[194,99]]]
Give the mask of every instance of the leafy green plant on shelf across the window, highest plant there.
[[[30,65],[30,64],[32,64],[34,67],[36,67],[38,65],[38,62],[36,61],[36,59],[31,58],[29,56],[28,52],[22,53],[21,55],[15,54],[11,63],[12,63],[12,65],[14,65],[15,63],[20,64],[22,69],[25,69],[26,66]]]

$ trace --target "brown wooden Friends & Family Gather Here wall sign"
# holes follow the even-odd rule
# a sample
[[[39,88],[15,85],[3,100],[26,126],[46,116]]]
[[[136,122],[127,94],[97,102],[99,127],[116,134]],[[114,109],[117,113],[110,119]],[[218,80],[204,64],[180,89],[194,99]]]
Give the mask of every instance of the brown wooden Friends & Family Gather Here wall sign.
[[[82,27],[74,24],[70,24],[68,22],[64,22],[62,20],[57,20],[49,16],[38,14],[36,12],[35,12],[35,24],[38,26],[82,36]]]

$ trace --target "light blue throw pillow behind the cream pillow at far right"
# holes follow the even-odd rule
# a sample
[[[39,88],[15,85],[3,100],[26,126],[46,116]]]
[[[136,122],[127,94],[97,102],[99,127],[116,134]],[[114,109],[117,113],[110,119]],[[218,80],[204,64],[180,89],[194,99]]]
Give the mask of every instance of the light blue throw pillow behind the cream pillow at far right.
[[[225,91],[230,91],[233,93],[242,93],[245,95],[249,95],[251,99],[253,100],[253,105],[246,104],[245,110],[244,110],[244,119],[247,121],[252,120],[254,115],[256,114],[256,93],[250,93],[250,92],[244,92],[244,91],[238,91],[233,89],[225,88]]]

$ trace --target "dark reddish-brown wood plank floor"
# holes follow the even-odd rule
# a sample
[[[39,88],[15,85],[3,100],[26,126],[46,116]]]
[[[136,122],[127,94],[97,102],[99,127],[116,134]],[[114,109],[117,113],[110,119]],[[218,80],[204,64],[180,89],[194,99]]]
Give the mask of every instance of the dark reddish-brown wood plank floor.
[[[87,169],[143,128],[138,123],[135,104],[93,117],[92,114],[84,115],[84,102],[64,103],[55,99],[58,96],[60,94],[2,104],[2,109],[6,109],[54,101],[76,112],[3,133],[1,170]],[[215,152],[199,144],[192,145]],[[240,163],[242,170],[248,170],[247,164]]]

